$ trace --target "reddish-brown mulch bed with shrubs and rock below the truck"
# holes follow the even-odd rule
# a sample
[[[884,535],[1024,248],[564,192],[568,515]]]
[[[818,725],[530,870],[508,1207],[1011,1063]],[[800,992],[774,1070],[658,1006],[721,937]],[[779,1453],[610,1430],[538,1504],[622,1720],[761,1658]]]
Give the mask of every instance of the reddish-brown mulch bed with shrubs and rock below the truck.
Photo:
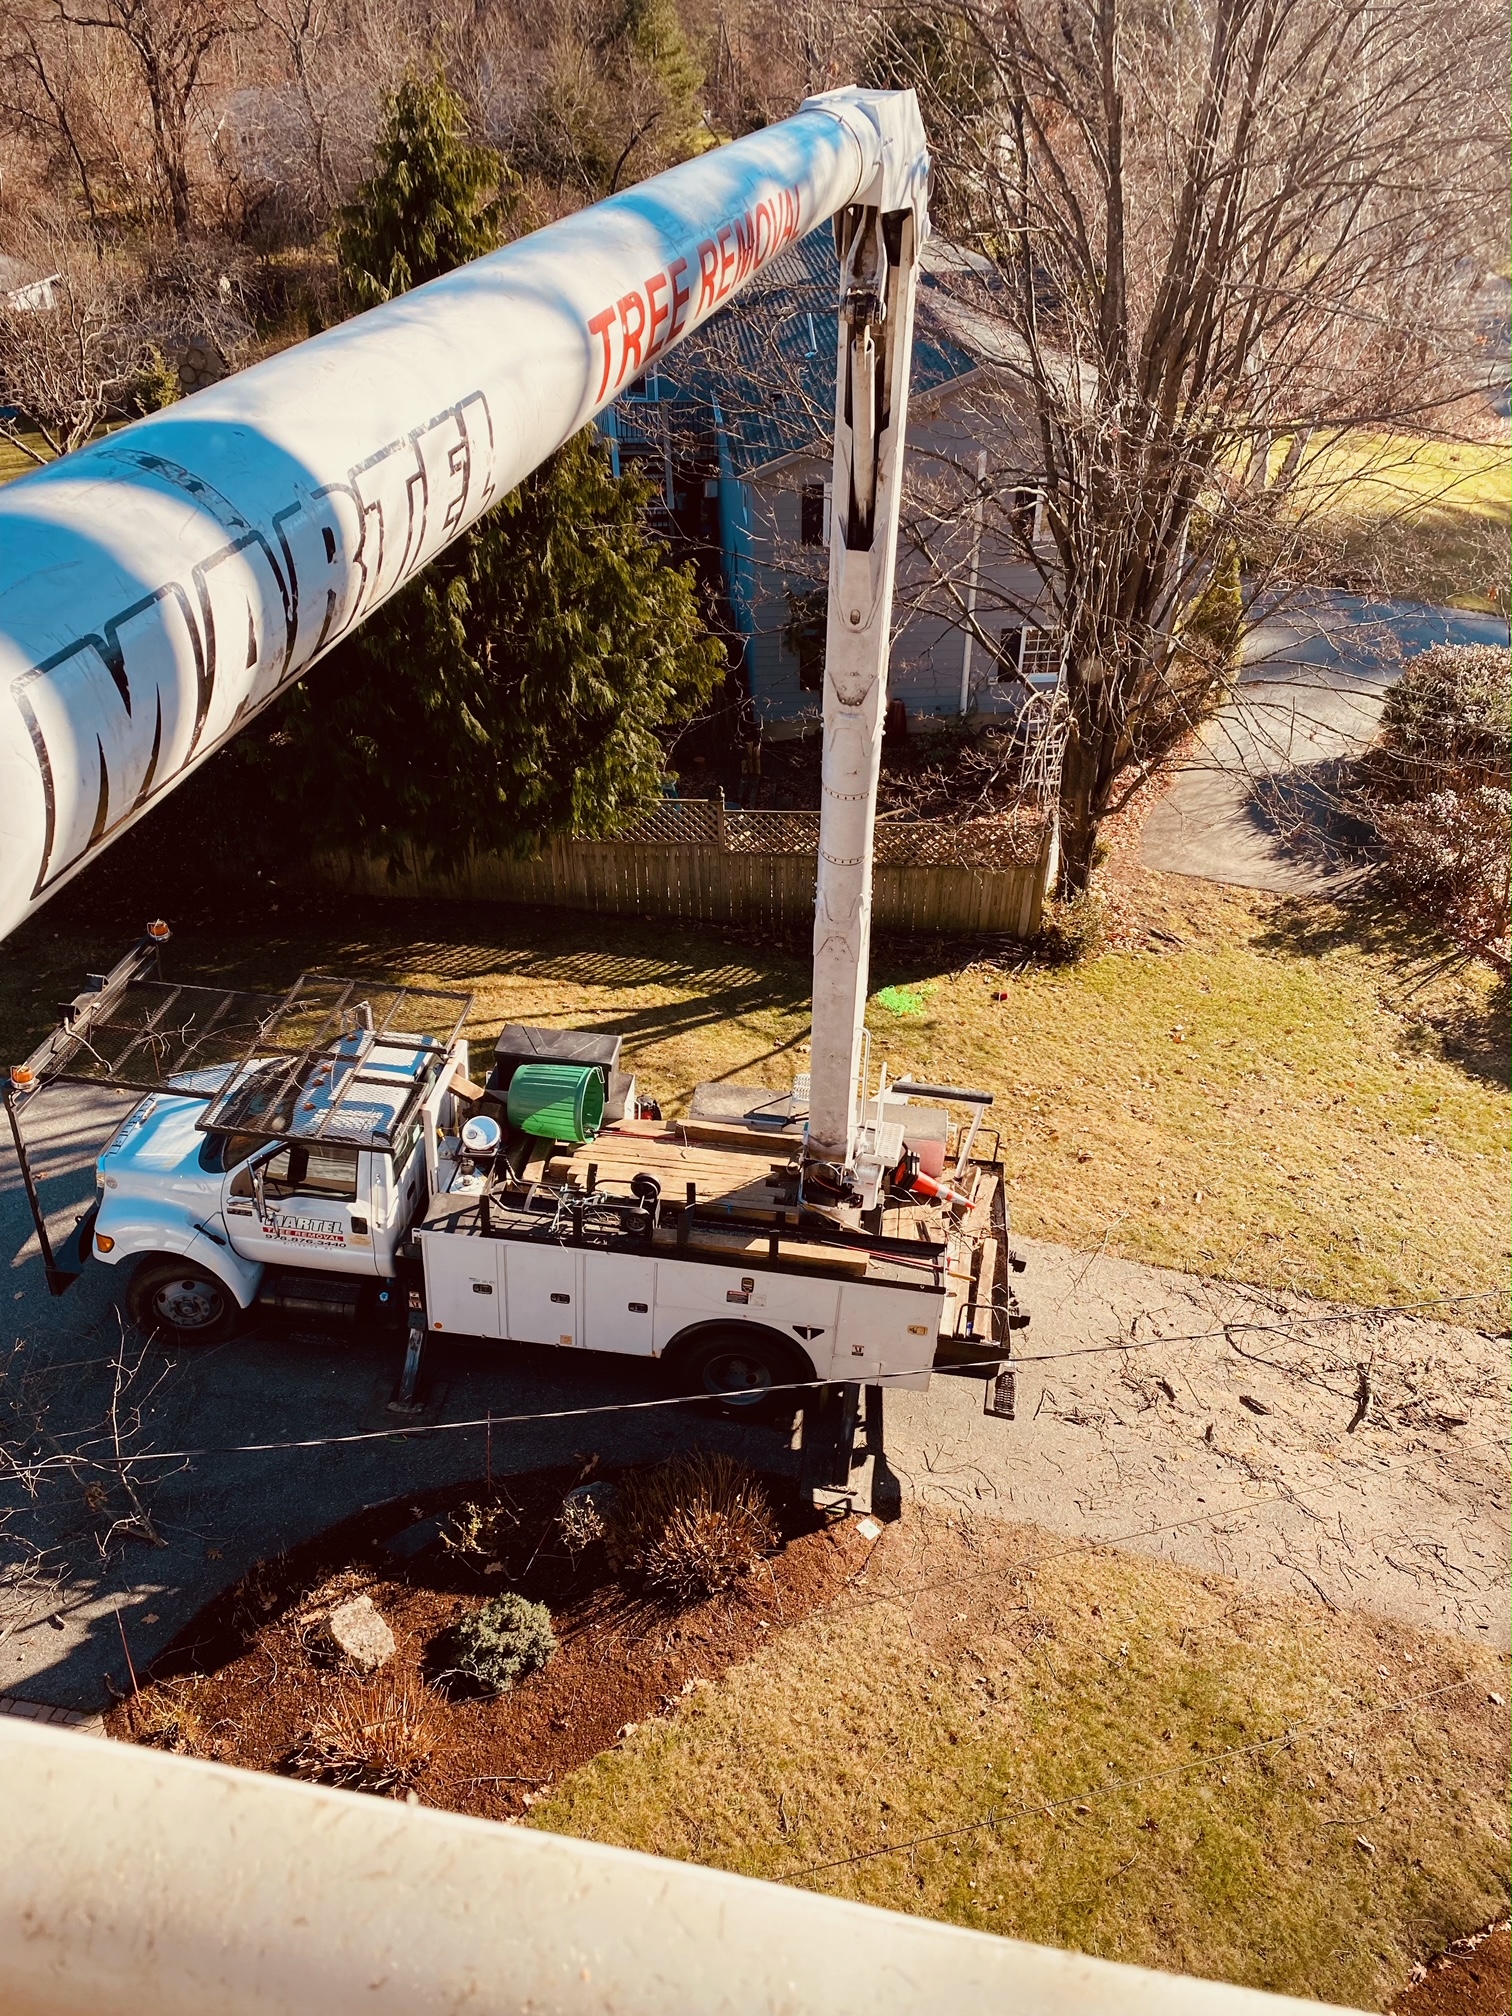
[[[677,1609],[615,1581],[603,1546],[573,1556],[560,1544],[562,1496],[589,1472],[538,1470],[395,1500],[260,1562],[139,1673],[141,1693],[117,1704],[109,1734],[278,1772],[331,1702],[363,1685],[377,1697],[395,1677],[417,1675],[431,1744],[419,1800],[510,1820],[631,1724],[667,1714],[829,1603],[871,1554],[855,1520],[821,1524],[790,1482],[766,1478],[778,1552],[732,1593]],[[498,1562],[446,1546],[433,1528],[466,1502],[506,1508]],[[411,1552],[393,1552],[395,1540]],[[510,1693],[480,1697],[446,1679],[448,1635],[510,1589],[546,1603],[560,1651]],[[373,1599],[397,1641],[365,1683],[325,1663],[310,1629],[312,1615],[355,1595]]]

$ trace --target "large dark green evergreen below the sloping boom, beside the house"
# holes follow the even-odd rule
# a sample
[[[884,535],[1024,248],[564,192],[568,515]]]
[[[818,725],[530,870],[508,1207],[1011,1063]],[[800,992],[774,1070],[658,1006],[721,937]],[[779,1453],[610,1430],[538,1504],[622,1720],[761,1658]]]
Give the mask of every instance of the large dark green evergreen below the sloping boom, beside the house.
[[[724,647],[647,496],[585,429],[294,687],[276,790],[312,839],[454,865],[655,798],[657,732],[708,702]]]

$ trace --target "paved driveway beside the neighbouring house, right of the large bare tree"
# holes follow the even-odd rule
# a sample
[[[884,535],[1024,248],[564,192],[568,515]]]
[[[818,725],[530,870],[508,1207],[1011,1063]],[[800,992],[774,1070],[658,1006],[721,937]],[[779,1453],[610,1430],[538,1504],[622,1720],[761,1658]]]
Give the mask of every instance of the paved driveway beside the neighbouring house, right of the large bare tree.
[[[1375,734],[1403,663],[1433,643],[1506,643],[1496,617],[1316,595],[1248,639],[1236,698],[1151,810],[1145,867],[1286,895],[1369,871],[1369,831],[1339,776]]]

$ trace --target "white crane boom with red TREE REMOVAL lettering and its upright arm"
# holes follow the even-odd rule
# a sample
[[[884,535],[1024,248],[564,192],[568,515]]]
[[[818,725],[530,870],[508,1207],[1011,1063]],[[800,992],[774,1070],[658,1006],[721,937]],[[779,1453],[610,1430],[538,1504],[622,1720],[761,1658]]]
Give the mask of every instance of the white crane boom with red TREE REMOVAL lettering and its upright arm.
[[[2,490],[0,935],[843,216],[812,1135],[849,1161],[927,175],[913,93],[808,99]]]

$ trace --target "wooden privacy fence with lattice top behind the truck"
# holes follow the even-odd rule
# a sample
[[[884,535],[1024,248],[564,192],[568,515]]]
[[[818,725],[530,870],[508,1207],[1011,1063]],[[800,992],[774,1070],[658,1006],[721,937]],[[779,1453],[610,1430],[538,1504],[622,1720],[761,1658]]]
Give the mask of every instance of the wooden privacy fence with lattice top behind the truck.
[[[544,903],[687,923],[806,923],[814,913],[818,812],[740,812],[720,798],[669,798],[613,841],[550,841],[532,859],[480,853],[458,869],[417,859],[391,871],[323,855],[323,881],[351,895]],[[1004,931],[1032,937],[1054,875],[1054,821],[879,821],[879,931]]]

